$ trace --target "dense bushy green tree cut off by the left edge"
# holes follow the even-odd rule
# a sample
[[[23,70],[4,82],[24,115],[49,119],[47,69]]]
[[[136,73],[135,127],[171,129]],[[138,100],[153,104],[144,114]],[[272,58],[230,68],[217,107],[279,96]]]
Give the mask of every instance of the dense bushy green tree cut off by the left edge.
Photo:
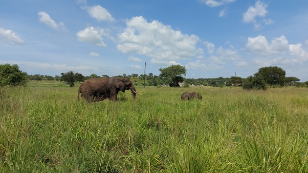
[[[0,87],[26,85],[27,73],[22,72],[17,64],[0,65]]]

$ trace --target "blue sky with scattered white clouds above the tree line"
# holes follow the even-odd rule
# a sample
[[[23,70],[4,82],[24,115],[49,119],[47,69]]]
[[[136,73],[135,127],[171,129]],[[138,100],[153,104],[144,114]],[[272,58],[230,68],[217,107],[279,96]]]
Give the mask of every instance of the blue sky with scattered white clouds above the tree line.
[[[278,66],[308,80],[308,0],[3,0],[0,64],[74,71],[248,77]]]

